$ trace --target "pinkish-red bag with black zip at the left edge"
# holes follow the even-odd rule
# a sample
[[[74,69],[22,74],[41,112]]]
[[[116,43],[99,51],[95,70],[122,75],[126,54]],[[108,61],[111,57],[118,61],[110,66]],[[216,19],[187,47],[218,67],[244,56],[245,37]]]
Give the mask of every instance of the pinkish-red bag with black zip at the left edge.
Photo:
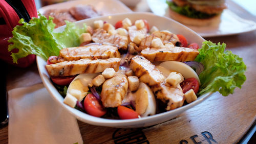
[[[35,62],[35,55],[20,58],[18,64],[13,63],[11,53],[8,52],[8,40],[12,37],[12,30],[23,18],[28,22],[31,17],[37,17],[33,0],[0,0],[0,59],[19,67],[27,67]],[[12,51],[15,53],[14,51]]]

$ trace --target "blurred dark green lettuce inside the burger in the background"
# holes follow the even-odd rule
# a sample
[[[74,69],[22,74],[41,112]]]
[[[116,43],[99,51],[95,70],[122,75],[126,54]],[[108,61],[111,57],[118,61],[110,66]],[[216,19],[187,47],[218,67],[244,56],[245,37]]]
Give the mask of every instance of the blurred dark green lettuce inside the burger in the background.
[[[195,9],[192,9],[189,5],[180,7],[180,6],[177,6],[174,2],[169,2],[169,1],[166,1],[166,4],[168,4],[169,8],[172,9],[173,11],[190,18],[203,19],[203,18],[210,18],[216,15],[216,14],[207,14],[200,11],[196,11]]]

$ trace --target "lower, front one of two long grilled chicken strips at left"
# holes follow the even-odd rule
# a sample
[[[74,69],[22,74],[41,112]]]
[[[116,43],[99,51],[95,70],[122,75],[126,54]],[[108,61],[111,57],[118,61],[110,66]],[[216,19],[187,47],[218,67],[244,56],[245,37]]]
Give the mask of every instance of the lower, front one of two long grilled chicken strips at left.
[[[119,69],[120,58],[109,59],[80,59],[77,61],[63,61],[46,65],[51,77],[74,76],[77,74],[101,73],[105,68]]]

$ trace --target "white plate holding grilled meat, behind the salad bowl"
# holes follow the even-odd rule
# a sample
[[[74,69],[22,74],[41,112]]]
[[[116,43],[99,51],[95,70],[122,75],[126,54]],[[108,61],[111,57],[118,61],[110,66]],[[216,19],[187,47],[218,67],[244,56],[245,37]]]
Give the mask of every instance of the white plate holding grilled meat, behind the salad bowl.
[[[117,0],[77,0],[68,1],[64,3],[53,4],[40,8],[38,11],[44,14],[46,10],[50,9],[69,9],[76,5],[92,5],[102,15],[109,15],[115,13],[129,13],[133,12],[131,9],[126,7],[123,3]]]

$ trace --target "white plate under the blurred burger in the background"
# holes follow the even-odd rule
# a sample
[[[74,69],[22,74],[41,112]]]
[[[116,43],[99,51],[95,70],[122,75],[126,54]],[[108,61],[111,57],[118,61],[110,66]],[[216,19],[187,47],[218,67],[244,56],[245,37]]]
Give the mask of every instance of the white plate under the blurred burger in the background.
[[[165,2],[166,0],[147,0],[147,4],[154,14],[169,17],[169,7]],[[228,7],[236,5],[235,3],[230,1],[227,1],[227,4]],[[239,6],[236,5],[236,7]],[[254,21],[239,17],[229,9],[225,9],[221,15],[221,21],[219,25],[212,25],[206,27],[187,27],[194,30],[202,37],[215,37],[245,33],[256,30],[256,23]]]

